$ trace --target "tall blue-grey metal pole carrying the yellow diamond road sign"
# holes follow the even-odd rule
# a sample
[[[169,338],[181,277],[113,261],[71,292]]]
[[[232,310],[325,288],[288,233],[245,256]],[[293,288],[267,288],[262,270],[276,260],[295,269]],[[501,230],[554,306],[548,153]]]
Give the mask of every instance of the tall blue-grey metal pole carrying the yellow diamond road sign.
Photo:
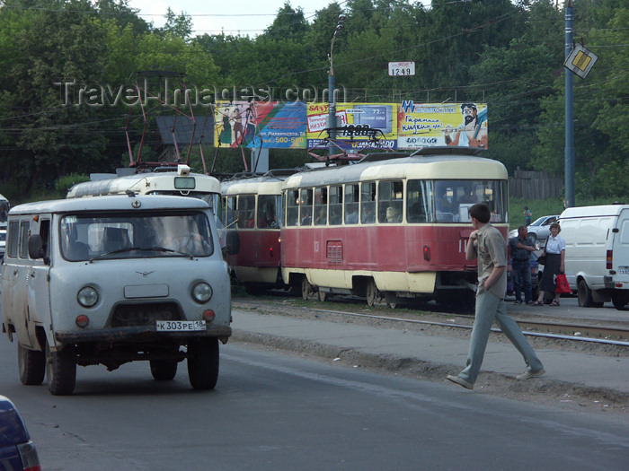
[[[574,39],[574,1],[566,0],[565,2],[565,57],[570,56]],[[575,205],[574,201],[574,94],[572,73],[565,71],[565,207],[569,208]]]

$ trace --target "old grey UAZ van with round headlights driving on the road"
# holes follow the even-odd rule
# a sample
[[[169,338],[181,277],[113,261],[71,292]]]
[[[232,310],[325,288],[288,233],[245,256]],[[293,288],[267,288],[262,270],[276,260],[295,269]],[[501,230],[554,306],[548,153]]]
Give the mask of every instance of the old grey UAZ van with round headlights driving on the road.
[[[208,205],[182,196],[95,196],[13,207],[2,271],[3,332],[23,384],[72,394],[76,365],[147,360],[192,388],[217,383],[232,330],[227,266]],[[184,347],[184,348],[182,348]]]

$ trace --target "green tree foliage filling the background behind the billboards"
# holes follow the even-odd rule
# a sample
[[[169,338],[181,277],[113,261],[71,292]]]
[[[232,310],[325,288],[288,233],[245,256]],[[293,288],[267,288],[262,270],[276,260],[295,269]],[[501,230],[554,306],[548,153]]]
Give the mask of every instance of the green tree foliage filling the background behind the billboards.
[[[629,7],[626,0],[575,0],[574,9],[575,39],[599,57],[586,80],[574,81],[577,191],[627,194]],[[255,37],[194,37],[190,16],[170,8],[156,28],[128,0],[5,0],[0,182],[28,193],[30,182],[54,185],[67,174],[111,171],[128,161],[127,118],[139,136],[144,115],[114,99],[138,72],[183,74],[188,86],[219,98],[225,89],[233,99],[236,88],[286,100],[287,89],[308,89],[321,100],[340,13],[346,20],[332,64],[348,100],[487,102],[490,156],[509,170],[563,174],[564,19],[553,0],[331,1],[311,18],[287,2]],[[389,77],[389,61],[414,61],[416,74]],[[105,86],[115,102],[78,104],[98,101]],[[170,83],[170,91],[178,86]],[[147,136],[146,152],[157,155],[159,144]],[[213,153],[206,151],[206,160]],[[232,163],[226,167],[240,165]]]

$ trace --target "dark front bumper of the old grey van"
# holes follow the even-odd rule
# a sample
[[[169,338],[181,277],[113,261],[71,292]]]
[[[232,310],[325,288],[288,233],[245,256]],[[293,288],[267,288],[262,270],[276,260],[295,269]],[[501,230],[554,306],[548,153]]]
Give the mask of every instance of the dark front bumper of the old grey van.
[[[81,344],[85,342],[113,343],[150,343],[159,340],[173,340],[185,344],[196,338],[217,337],[226,344],[232,335],[232,327],[208,326],[206,330],[188,332],[157,332],[155,326],[101,328],[85,331],[58,331],[55,339],[63,344]]]

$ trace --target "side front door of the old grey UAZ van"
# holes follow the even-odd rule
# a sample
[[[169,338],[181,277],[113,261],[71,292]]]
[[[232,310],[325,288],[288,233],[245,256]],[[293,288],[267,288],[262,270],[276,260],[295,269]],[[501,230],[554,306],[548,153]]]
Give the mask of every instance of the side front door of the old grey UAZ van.
[[[27,329],[31,345],[36,347],[35,327],[50,324],[49,269],[50,269],[50,216],[40,215],[31,222],[31,234],[39,233],[44,257],[30,260],[30,278],[26,287]],[[43,345],[40,345],[43,348]]]

